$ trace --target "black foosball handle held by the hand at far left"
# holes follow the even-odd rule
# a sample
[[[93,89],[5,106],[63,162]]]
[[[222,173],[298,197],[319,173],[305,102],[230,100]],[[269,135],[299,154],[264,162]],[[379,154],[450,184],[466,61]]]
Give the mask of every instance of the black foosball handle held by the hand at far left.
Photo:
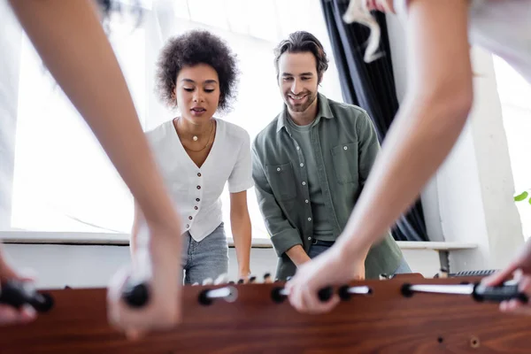
[[[27,282],[6,281],[0,290],[0,304],[8,304],[17,309],[29,304],[37,312],[48,312],[54,301],[50,294],[37,292]]]

